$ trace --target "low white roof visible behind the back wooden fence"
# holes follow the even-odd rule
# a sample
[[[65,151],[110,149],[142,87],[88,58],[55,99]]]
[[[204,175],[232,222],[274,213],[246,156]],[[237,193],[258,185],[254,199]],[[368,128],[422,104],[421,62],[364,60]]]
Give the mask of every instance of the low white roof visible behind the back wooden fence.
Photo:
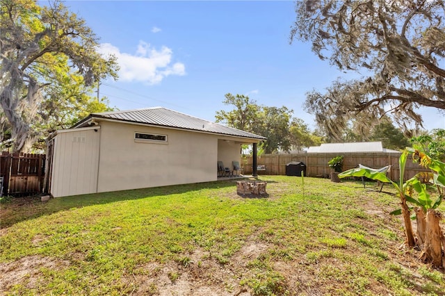
[[[307,153],[348,153],[348,152],[399,152],[382,147],[382,142],[350,142],[350,143],[326,143],[320,146],[312,146]]]

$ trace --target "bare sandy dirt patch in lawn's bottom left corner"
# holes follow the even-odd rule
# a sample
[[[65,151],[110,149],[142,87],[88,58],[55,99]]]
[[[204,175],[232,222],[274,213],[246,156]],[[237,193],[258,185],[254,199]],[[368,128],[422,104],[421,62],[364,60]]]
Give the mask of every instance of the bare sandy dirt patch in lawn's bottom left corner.
[[[42,279],[41,268],[59,270],[68,265],[69,261],[41,256],[26,256],[11,263],[0,263],[0,294],[17,284],[29,289],[37,288]]]

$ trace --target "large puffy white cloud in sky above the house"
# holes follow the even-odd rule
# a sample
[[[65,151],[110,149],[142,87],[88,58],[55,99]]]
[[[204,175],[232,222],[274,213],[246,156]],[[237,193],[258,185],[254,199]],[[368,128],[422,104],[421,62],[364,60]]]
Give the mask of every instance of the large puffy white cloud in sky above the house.
[[[140,41],[136,54],[123,53],[118,47],[109,43],[99,46],[102,55],[113,54],[118,58],[120,66],[119,79],[121,81],[142,81],[150,84],[160,83],[170,75],[185,75],[186,67],[183,63],[172,64],[172,49],[161,47],[157,50],[147,42]]]

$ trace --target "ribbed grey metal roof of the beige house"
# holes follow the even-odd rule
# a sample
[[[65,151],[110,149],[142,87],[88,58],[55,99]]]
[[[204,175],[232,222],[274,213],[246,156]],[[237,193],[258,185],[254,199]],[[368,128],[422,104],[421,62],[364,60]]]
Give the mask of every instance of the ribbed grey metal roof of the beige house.
[[[190,131],[202,131],[207,133],[216,133],[220,135],[235,135],[242,138],[252,138],[266,140],[267,138],[247,131],[241,131],[222,124],[202,120],[191,115],[179,113],[163,107],[143,108],[136,110],[122,110],[104,113],[92,113],[88,117],[78,122],[73,127],[81,127],[88,124],[93,118],[104,118],[107,120],[118,120],[122,122],[134,122],[138,124],[147,124],[150,126],[165,126],[175,129],[186,129]]]

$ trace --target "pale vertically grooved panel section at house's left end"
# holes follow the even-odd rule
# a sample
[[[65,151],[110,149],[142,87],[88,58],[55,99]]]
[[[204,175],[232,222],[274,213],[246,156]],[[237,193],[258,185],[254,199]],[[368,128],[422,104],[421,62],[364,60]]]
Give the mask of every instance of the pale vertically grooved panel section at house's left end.
[[[100,129],[60,132],[54,138],[51,194],[54,197],[96,192]]]

